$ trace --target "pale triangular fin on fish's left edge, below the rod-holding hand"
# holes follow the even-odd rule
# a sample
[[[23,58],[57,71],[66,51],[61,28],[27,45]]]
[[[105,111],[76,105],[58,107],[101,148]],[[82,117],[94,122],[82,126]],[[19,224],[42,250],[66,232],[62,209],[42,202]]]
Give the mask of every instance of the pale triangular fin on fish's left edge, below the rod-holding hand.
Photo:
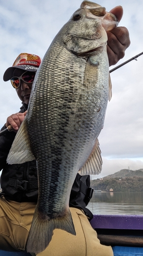
[[[35,157],[31,151],[26,121],[24,119],[12,143],[12,146],[7,158],[7,163],[19,164],[19,163],[32,161],[32,160],[35,160]]]

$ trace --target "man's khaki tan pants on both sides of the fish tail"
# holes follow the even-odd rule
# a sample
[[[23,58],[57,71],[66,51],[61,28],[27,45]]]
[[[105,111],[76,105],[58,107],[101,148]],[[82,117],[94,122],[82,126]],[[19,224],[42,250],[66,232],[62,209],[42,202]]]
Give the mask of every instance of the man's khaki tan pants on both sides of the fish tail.
[[[35,203],[8,201],[0,198],[0,249],[26,250]],[[61,230],[53,231],[52,240],[38,256],[113,256],[110,246],[100,244],[96,231],[77,208],[70,208],[76,236]]]

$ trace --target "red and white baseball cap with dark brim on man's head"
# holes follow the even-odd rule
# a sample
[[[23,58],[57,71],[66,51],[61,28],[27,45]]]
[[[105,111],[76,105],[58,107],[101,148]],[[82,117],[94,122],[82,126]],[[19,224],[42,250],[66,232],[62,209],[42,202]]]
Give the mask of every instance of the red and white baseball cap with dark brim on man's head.
[[[13,77],[13,72],[16,69],[36,72],[40,66],[42,59],[35,54],[20,53],[14,61],[12,67],[8,68],[4,73],[4,81],[8,81]]]

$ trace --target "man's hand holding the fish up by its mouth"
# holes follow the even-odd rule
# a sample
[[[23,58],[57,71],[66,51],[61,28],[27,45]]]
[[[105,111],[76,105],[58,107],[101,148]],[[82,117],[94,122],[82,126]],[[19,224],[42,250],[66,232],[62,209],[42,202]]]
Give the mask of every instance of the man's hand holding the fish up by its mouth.
[[[123,16],[123,8],[117,6],[110,11],[114,14],[119,22]],[[109,59],[109,66],[115,65],[125,55],[125,50],[130,45],[129,32],[125,27],[117,27],[107,31],[107,54]]]

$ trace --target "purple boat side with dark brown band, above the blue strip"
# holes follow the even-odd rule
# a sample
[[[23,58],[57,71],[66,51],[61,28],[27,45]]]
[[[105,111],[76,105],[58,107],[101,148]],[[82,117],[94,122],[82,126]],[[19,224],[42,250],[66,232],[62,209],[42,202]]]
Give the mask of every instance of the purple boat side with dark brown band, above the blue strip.
[[[101,244],[143,247],[141,215],[94,215],[91,225]]]

